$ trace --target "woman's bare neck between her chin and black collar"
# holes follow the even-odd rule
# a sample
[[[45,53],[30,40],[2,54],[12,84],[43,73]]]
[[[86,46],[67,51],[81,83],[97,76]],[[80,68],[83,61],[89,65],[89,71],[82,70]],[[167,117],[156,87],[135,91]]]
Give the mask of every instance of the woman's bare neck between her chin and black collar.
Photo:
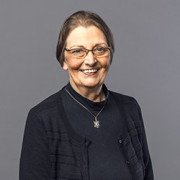
[[[102,90],[102,85],[99,87],[84,87],[84,86],[76,86],[74,83],[70,82],[72,88],[81,96],[89,99],[94,102],[101,102],[105,100],[105,95]]]

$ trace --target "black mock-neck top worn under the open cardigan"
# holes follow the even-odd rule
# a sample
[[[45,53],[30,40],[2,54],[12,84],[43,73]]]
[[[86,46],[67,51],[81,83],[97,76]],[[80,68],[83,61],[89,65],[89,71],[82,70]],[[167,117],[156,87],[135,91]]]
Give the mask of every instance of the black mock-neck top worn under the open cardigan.
[[[94,115],[105,106],[98,116],[99,128],[93,126],[93,115],[77,103],[65,89]],[[106,100],[102,102],[86,99],[78,94],[70,84],[63,90],[62,100],[71,126],[77,133],[91,141],[88,148],[90,179],[131,180],[129,167],[117,141],[118,135],[122,133],[122,118],[114,98],[111,94],[109,95],[105,85],[103,91]]]

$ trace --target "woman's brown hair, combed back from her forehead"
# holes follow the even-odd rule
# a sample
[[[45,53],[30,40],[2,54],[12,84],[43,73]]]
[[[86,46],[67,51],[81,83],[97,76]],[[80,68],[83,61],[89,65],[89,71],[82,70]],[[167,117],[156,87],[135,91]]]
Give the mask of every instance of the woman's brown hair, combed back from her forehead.
[[[96,26],[104,33],[107,40],[107,44],[111,48],[112,61],[114,53],[114,40],[110,28],[107,26],[104,20],[96,13],[90,11],[77,11],[70,15],[64,21],[59,32],[59,38],[56,46],[56,58],[61,64],[61,66],[63,66],[64,63],[64,49],[66,46],[67,37],[70,34],[70,32],[78,26],[88,27],[91,25]]]

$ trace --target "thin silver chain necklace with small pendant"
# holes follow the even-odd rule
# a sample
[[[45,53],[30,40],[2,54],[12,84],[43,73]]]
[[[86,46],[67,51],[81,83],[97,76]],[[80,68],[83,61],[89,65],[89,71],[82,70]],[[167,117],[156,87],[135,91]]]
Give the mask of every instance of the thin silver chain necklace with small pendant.
[[[88,111],[93,117],[94,117],[94,121],[93,121],[93,126],[95,128],[99,128],[100,127],[100,121],[98,121],[97,117],[99,116],[99,114],[103,111],[106,103],[104,104],[104,106],[101,108],[101,110],[96,114],[94,115],[86,106],[84,106],[81,102],[79,102],[66,88],[65,88],[65,91],[69,94],[69,96],[74,99],[74,101],[76,101],[80,106],[82,106],[86,111]],[[107,97],[106,97],[107,99]]]

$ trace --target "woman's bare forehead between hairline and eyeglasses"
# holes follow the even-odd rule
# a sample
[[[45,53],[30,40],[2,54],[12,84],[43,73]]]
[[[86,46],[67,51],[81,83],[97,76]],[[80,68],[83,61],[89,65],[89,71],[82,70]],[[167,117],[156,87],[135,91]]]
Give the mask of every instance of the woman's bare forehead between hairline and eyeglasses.
[[[95,44],[107,43],[104,33],[96,26],[78,26],[73,29],[67,39],[66,44],[71,46],[93,46]]]

